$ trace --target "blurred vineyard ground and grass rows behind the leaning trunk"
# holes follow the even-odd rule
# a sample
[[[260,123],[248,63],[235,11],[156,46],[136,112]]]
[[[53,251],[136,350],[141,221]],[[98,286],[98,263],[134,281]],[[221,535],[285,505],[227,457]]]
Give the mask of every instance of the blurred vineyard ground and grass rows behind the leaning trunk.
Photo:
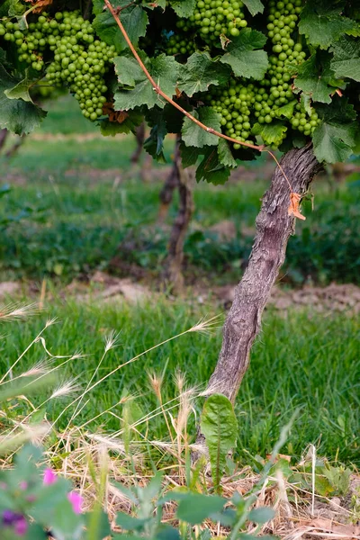
[[[133,165],[132,135],[103,138],[75,100],[60,98],[50,104],[41,129],[6,157],[17,142],[8,138],[0,157],[0,293],[3,303],[40,302],[42,311],[15,322],[2,340],[2,371],[48,318],[58,317],[47,331],[50,351],[86,355],[66,366],[69,376],[90,377],[102,355],[103,336],[121,332],[119,347],[98,370],[100,378],[120,357],[126,361],[203,316],[229,308],[247,265],[273,162],[261,157],[239,167],[229,184],[195,186],[184,245],[186,292],[175,298],[160,285],[176,193],[168,215],[159,217],[159,193],[175,141],[167,144],[166,164],[142,155]],[[360,464],[359,171],[360,159],[327,168],[303,204],[306,221],[296,222],[238,396],[238,455],[247,463],[271,451],[300,407],[285,453],[300,456],[312,443],[331,460]],[[79,419],[85,422],[89,409],[108,409],[127,393],[141,396],[141,413],[151,410],[156,406],[151,370],[169,374],[168,399],[175,392],[176,369],[201,388],[219,350],[220,329],[167,343],[98,387]],[[16,369],[21,373],[42,356],[42,348],[32,347]],[[46,414],[53,419],[62,409],[63,404],[50,403]],[[67,415],[62,420],[66,425]],[[116,422],[105,415],[92,427],[112,430]],[[157,437],[163,422],[154,421]]]

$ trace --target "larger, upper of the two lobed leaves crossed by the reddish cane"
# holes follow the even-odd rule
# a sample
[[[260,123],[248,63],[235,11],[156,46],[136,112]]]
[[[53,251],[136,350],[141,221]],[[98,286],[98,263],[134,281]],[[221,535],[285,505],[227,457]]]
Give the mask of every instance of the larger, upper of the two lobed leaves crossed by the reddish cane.
[[[170,97],[174,95],[180,68],[175,58],[165,54],[147,58],[143,54],[142,60],[161,90]],[[166,102],[154,91],[135,58],[121,56],[115,58],[114,64],[119,82],[124,86],[114,94],[115,110],[128,111],[141,105],[147,105],[148,109],[154,105],[164,107]]]

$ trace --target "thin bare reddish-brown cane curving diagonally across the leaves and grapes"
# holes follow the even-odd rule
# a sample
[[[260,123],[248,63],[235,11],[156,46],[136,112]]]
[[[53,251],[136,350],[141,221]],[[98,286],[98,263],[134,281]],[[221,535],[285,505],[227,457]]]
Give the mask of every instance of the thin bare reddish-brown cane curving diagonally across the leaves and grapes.
[[[106,5],[106,7],[108,8],[108,10],[110,11],[110,13],[112,14],[112,17],[114,18],[115,22],[119,26],[119,28],[121,30],[121,33],[122,33],[122,35],[124,37],[124,40],[129,45],[129,49],[132,52],[133,56],[136,58],[136,60],[137,60],[137,62],[139,64],[139,67],[141,67],[142,71],[147,76],[148,81],[152,85],[154,92],[156,92],[158,95],[161,95],[161,97],[163,97],[166,100],[167,103],[171,103],[176,109],[178,109],[180,112],[182,112],[184,114],[184,116],[187,116],[187,118],[189,118],[196,125],[198,125],[199,128],[202,128],[202,130],[205,130],[208,133],[211,133],[212,135],[215,135],[216,137],[220,137],[220,139],[226,139],[226,140],[229,140],[229,142],[233,142],[235,144],[240,144],[241,146],[244,146],[244,147],[247,147],[247,148],[253,148],[255,150],[259,150],[260,152],[267,152],[268,154],[270,154],[270,156],[273,157],[273,159],[275,160],[276,165],[280,168],[282,174],[284,175],[284,178],[285,178],[285,180],[286,180],[286,182],[287,182],[287,184],[288,184],[288,186],[290,188],[291,193],[293,193],[292,184],[290,183],[289,178],[285,175],[283,167],[279,164],[279,162],[276,159],[273,152],[266,149],[264,145],[257,146],[256,144],[250,144],[248,142],[243,142],[242,140],[233,139],[232,137],[229,137],[228,135],[224,135],[224,133],[221,133],[220,131],[214,130],[213,128],[210,128],[209,126],[206,126],[204,123],[202,123],[202,121],[197,120],[197,118],[195,118],[193,116],[193,114],[191,114],[190,112],[185,111],[181,105],[176,103],[171,97],[169,97],[167,94],[165,94],[165,92],[163,92],[161,90],[160,86],[157,85],[155,80],[148,73],[147,67],[145,66],[144,62],[139,57],[139,54],[138,54],[137,50],[135,49],[135,47],[131,43],[130,37],[129,37],[127,31],[125,30],[125,28],[123,27],[123,24],[121,23],[121,20],[120,20],[120,17],[119,17],[119,14],[118,14],[117,10],[115,10],[112,7],[112,4],[110,3],[109,0],[103,0],[103,2]]]

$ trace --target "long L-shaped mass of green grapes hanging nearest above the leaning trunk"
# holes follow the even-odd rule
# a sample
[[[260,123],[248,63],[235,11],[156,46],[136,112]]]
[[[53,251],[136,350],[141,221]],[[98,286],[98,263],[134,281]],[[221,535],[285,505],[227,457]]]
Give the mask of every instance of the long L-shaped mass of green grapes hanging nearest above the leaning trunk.
[[[270,0],[268,6],[267,31],[272,54],[265,78],[260,82],[233,78],[228,87],[214,87],[203,97],[205,103],[220,114],[224,133],[242,142],[253,142],[251,129],[255,122],[270,124],[278,118],[284,120],[279,110],[288,103],[290,113],[293,111],[290,120],[293,130],[309,136],[319,124],[317,112],[312,110],[308,114],[301,103],[295,101],[291,76],[287,71],[288,64],[300,64],[306,58],[302,44],[293,40],[302,0]],[[234,148],[238,148],[238,144],[234,144]]]

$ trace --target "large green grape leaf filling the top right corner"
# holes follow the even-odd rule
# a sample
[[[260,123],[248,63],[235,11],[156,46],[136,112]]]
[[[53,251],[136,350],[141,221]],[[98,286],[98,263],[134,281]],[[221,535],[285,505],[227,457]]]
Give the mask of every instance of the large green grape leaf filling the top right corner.
[[[302,10],[299,31],[306,34],[311,45],[328,49],[347,31],[356,29],[356,21],[341,14],[344,2],[316,0],[307,2]]]

